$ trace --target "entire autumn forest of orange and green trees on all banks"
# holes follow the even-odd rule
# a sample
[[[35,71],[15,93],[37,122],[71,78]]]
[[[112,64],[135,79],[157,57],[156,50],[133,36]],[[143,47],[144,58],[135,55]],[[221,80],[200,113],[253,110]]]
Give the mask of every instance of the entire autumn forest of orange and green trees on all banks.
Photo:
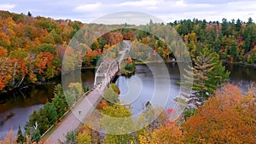
[[[83,24],[80,21],[54,20],[28,14],[14,14],[0,11],[0,92],[20,88],[27,84],[44,84],[50,78],[69,72],[79,67],[95,67],[101,60],[102,54],[112,58],[118,56],[117,44],[123,40],[131,40],[134,45],[145,43],[153,49],[133,47],[126,60],[126,69],[133,69],[131,61],[150,61],[155,55],[170,62],[178,60],[175,41],[176,33],[182,39],[189,51],[192,60],[194,76],[192,89],[195,94],[189,95],[203,104],[196,108],[187,108],[181,118],[173,122],[168,115],[173,112],[168,109],[161,112],[154,122],[142,130],[132,132],[131,135],[104,135],[83,125],[79,130],[70,131],[67,141],[63,143],[255,143],[256,142],[256,89],[242,93],[235,85],[228,84],[230,72],[225,70],[223,62],[255,67],[256,64],[256,25],[252,18],[247,21],[223,19],[222,21],[206,20],[176,20],[165,24],[156,24],[148,21],[143,26],[145,31],[125,28],[97,37],[89,47],[79,43],[79,48],[71,48],[69,44],[83,27],[92,27],[92,30],[101,31],[104,25]],[[147,30],[147,31],[146,31]],[[175,32],[173,31],[175,30]],[[164,38],[172,39],[167,45],[166,39],[154,36],[154,32],[167,33]],[[173,37],[167,37],[168,34]],[[82,33],[83,34],[83,33]],[[168,35],[168,36],[170,36]],[[79,42],[90,41],[86,35]],[[170,48],[171,47],[171,48]],[[137,49],[139,48],[139,49]],[[145,53],[147,51],[147,53]],[[62,60],[65,57],[65,66]],[[131,60],[132,59],[132,60]],[[73,64],[80,61],[81,65]],[[130,66],[131,65],[131,66]],[[187,85],[185,83],[181,85]],[[83,88],[79,84],[70,84],[71,92],[68,95],[82,95]],[[61,85],[55,87],[55,96],[51,102],[38,111],[32,112],[26,123],[25,133],[18,131],[15,136],[12,132],[3,143],[39,142],[41,135],[49,129],[50,124],[57,123],[63,113],[68,110],[67,101]],[[111,117],[125,118],[132,115],[131,107],[122,105],[119,101],[119,89],[110,84],[105,91],[105,101],[102,100],[97,109]],[[140,123],[144,123],[160,111],[150,104],[143,110]],[[92,119],[94,115],[90,116]],[[37,129],[33,126],[39,122]],[[129,122],[129,123],[128,123]],[[102,117],[100,125],[111,131],[108,118]],[[133,119],[128,119],[125,127],[138,127]],[[22,134],[23,133],[23,134]],[[45,140],[47,141],[47,140]]]

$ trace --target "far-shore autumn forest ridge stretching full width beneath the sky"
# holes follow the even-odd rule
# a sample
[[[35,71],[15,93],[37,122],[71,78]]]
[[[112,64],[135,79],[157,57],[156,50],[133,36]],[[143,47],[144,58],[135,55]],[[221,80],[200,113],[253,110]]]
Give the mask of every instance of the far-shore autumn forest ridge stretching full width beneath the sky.
[[[95,25],[99,31],[104,26],[34,17],[31,13],[14,14],[0,11],[0,91],[41,83],[59,75],[64,53],[74,52],[73,49],[67,49],[70,39],[86,25]],[[151,25],[154,25],[154,22],[148,21],[149,32],[165,32],[163,26],[154,30]],[[202,49],[207,48],[216,52],[220,60],[246,65],[256,64],[256,25],[252,18],[247,21],[223,19],[221,22],[176,20],[166,26],[174,27],[181,36],[192,60]],[[147,32],[128,28],[104,34],[97,38],[84,54],[74,54],[69,59],[74,61],[84,57],[81,61],[83,66],[95,66],[100,55],[107,50],[113,57],[117,55],[119,48],[114,45],[123,39],[146,43],[154,49],[151,54],[159,54],[164,60],[174,58],[174,52],[161,39],[152,37]],[[131,55],[135,54],[141,60],[149,59],[145,49],[131,49]],[[67,69],[76,67],[70,64]]]

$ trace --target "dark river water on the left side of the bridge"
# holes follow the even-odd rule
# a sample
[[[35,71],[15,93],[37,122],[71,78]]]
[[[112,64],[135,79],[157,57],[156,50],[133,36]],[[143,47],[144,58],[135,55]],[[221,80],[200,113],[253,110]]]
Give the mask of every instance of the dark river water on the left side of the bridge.
[[[83,70],[81,79],[84,85],[92,87],[94,83],[94,69]],[[68,74],[69,77],[76,78],[77,72]],[[29,85],[24,89],[16,89],[7,94],[0,95],[0,140],[9,134],[10,130],[21,130],[28,121],[29,115],[54,97],[56,84],[61,83],[61,77],[49,80],[48,84]]]

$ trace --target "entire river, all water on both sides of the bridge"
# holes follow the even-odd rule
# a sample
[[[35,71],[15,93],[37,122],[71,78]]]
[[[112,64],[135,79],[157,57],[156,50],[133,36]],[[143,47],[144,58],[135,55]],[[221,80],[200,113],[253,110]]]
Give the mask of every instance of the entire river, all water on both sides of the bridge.
[[[178,95],[179,85],[177,85],[177,82],[180,75],[177,64],[171,63],[167,67],[171,80],[170,96],[166,101],[166,108],[169,108],[173,106],[173,98]],[[226,68],[230,70],[230,82],[240,85],[243,90],[247,89],[247,84],[256,82],[256,69],[232,65],[228,65]],[[92,69],[82,72],[81,79],[84,85],[90,85],[90,87],[93,85],[94,72]],[[74,78],[76,74],[76,72],[73,72]],[[47,101],[51,101],[55,84],[61,83],[61,77],[54,78],[49,82],[54,84],[31,85],[24,89],[17,89],[11,93],[0,95],[0,140],[8,135],[9,130],[14,130],[16,133],[19,125],[23,130],[30,113],[44,107]],[[130,87],[136,87],[138,83],[142,87],[138,88],[140,90],[137,93],[132,91]],[[131,111],[134,114],[141,112],[145,103],[153,98],[154,78],[146,65],[137,65],[135,74],[130,78],[119,76],[115,84],[119,86],[121,91],[120,100],[131,103],[133,107]],[[135,95],[134,97],[125,96],[132,92]]]

